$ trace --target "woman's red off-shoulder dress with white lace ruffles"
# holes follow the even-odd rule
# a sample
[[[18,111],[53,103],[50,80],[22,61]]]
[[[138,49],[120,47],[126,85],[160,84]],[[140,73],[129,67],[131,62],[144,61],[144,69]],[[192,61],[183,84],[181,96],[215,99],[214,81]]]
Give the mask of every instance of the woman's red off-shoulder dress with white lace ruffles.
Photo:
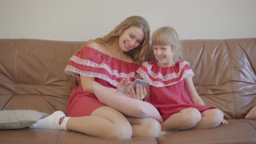
[[[117,82],[123,78],[135,80],[136,70],[139,66],[120,59],[115,59],[107,54],[97,51],[94,48],[85,46],[69,59],[65,69],[68,74],[75,75],[79,85],[73,89],[68,104],[67,116],[81,117],[88,116],[99,108],[106,106],[101,103],[95,94],[83,91],[80,75],[95,77],[95,81],[109,88],[116,88]]]

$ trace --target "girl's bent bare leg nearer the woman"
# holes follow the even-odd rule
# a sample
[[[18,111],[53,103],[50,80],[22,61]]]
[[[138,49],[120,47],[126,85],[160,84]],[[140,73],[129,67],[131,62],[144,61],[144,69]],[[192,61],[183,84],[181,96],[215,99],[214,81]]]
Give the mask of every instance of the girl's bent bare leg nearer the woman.
[[[201,120],[200,112],[195,108],[182,109],[162,124],[162,131],[184,130],[192,128]]]

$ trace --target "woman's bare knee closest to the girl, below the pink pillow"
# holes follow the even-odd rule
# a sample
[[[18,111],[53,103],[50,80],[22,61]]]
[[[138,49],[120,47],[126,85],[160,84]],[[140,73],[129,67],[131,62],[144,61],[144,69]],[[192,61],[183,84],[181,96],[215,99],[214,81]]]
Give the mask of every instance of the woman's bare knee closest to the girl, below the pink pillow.
[[[148,117],[145,127],[146,127],[145,137],[157,138],[159,136],[159,133],[161,131],[161,125],[154,118]]]

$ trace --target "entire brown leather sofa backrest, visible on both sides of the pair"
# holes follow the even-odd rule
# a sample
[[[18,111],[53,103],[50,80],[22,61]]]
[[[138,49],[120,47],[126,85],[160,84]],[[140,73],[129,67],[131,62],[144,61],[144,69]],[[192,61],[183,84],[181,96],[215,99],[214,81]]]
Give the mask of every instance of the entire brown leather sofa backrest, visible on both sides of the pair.
[[[66,112],[69,58],[84,42],[0,39],[0,108]],[[256,106],[256,38],[182,40],[184,60],[205,104],[225,118]]]

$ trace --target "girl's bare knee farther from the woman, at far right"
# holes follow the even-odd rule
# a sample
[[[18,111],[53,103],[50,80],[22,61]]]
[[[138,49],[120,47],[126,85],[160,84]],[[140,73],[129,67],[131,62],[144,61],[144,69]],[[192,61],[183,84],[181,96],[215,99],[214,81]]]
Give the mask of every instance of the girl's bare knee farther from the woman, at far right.
[[[215,128],[221,124],[224,115],[219,109],[209,109],[205,117],[208,117],[210,127]]]

